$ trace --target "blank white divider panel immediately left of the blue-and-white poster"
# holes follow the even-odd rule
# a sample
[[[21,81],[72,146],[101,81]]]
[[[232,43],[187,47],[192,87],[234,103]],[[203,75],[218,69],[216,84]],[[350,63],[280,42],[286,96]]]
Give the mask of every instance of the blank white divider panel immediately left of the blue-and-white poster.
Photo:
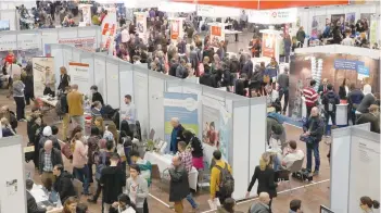
[[[154,129],[155,137],[164,140],[164,88],[165,80],[149,76],[149,114],[150,129]],[[169,141],[167,141],[169,142]]]

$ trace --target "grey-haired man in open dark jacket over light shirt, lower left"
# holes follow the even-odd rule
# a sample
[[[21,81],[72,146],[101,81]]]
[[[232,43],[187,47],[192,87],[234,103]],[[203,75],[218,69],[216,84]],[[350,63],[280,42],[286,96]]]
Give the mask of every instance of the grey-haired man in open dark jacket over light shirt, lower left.
[[[62,163],[61,151],[53,148],[53,141],[47,140],[43,149],[40,149],[39,173],[41,181],[45,183],[48,178],[54,179],[53,167]]]

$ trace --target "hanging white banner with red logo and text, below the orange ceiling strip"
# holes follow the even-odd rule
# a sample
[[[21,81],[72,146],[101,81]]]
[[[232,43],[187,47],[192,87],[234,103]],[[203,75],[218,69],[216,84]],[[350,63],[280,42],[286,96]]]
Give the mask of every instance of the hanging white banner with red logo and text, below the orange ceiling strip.
[[[295,23],[297,15],[297,9],[279,9],[279,10],[266,10],[266,11],[254,11],[247,12],[247,21],[255,24],[287,24]]]

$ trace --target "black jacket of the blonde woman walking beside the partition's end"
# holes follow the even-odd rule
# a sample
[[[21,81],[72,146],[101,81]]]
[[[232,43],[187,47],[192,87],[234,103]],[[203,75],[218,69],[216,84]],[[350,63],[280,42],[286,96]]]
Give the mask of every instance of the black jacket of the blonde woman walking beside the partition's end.
[[[275,172],[271,167],[266,167],[265,171],[262,171],[258,165],[255,166],[255,171],[252,180],[250,181],[247,191],[251,191],[255,181],[258,180],[258,188],[256,190],[257,195],[261,192],[267,192],[270,195],[270,198],[277,197],[278,185],[275,183],[274,175]]]

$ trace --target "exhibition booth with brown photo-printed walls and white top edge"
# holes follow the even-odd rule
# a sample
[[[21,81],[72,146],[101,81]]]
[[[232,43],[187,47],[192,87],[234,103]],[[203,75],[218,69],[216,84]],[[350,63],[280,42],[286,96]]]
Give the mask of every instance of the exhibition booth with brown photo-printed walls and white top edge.
[[[302,91],[312,79],[317,82],[317,90],[323,78],[333,85],[336,92],[344,79],[347,79],[347,85],[355,83],[359,89],[367,83],[372,92],[380,92],[380,52],[340,45],[295,49],[290,63],[289,116],[306,116]],[[338,105],[336,124],[347,125],[347,103]]]

